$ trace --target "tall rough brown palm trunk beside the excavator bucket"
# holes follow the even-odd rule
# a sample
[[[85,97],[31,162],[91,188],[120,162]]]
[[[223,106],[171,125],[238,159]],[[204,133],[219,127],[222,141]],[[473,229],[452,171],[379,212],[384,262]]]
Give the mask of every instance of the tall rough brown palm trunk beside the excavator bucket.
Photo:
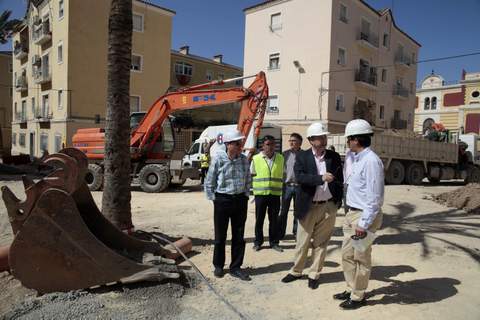
[[[132,225],[130,208],[130,66],[132,0],[111,0],[103,214],[118,228]]]

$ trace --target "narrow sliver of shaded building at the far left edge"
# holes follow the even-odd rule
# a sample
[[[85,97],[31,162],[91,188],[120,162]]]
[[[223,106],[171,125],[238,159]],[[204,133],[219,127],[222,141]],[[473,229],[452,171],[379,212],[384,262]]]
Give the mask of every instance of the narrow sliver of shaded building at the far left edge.
[[[12,145],[12,52],[0,51],[0,154]]]

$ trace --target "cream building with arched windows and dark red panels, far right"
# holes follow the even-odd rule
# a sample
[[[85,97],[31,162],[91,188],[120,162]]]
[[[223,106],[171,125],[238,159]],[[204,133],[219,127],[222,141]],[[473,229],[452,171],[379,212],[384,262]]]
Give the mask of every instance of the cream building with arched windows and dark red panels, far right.
[[[433,71],[423,79],[417,89],[415,131],[424,133],[433,123],[443,124],[453,139],[480,134],[480,72],[463,70],[453,83]]]

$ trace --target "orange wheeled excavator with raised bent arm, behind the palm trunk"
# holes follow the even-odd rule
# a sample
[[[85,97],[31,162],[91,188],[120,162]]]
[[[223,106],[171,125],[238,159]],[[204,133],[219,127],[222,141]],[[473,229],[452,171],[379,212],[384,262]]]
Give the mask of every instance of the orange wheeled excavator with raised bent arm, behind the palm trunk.
[[[255,79],[248,88],[216,88],[253,77]],[[172,165],[175,139],[169,115],[173,112],[239,102],[241,108],[237,128],[248,136],[255,124],[256,138],[263,123],[267,99],[268,85],[264,72],[254,76],[212,81],[165,94],[155,101],[138,127],[132,131],[132,177],[138,178],[140,187],[145,192],[161,192],[172,179],[184,179],[181,166]],[[90,190],[98,190],[103,184],[104,139],[105,130],[101,128],[79,129],[72,139],[73,146],[88,158],[89,172],[86,180]]]

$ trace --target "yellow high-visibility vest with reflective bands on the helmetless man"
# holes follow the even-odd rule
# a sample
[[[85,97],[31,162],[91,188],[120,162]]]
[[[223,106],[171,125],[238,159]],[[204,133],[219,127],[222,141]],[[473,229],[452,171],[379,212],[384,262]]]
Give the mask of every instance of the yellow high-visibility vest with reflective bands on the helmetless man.
[[[283,156],[276,153],[272,169],[270,169],[263,154],[253,156],[256,173],[252,181],[254,195],[282,195],[284,162]]]

